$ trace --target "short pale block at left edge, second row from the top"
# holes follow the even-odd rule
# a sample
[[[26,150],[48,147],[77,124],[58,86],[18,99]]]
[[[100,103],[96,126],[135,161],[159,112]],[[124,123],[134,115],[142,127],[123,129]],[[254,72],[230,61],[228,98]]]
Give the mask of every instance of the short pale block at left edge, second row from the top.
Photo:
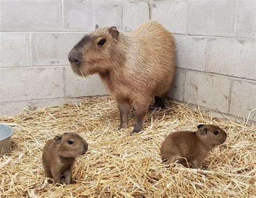
[[[0,33],[0,67],[30,66],[29,34]]]

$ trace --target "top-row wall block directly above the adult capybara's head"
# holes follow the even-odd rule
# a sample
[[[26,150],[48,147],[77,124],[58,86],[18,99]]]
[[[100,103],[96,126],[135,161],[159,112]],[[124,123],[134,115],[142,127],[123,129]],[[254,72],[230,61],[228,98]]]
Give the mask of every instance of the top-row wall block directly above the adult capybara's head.
[[[64,30],[93,31],[96,24],[122,30],[122,3],[64,0]]]

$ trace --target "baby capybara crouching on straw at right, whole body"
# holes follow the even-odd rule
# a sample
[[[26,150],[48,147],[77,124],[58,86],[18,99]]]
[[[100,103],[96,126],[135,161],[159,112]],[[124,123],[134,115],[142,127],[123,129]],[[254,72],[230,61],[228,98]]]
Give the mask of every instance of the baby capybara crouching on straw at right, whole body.
[[[176,161],[186,165],[186,160],[191,162],[192,167],[198,168],[215,146],[225,142],[227,133],[214,125],[198,125],[198,130],[176,131],[170,133],[161,145],[161,158],[167,164]]]

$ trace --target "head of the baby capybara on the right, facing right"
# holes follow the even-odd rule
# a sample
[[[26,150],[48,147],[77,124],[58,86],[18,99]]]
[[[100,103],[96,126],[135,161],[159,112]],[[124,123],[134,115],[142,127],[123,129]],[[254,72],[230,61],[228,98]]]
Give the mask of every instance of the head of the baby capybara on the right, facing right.
[[[227,133],[218,126],[199,124],[197,128],[199,138],[209,146],[218,146],[227,138]]]

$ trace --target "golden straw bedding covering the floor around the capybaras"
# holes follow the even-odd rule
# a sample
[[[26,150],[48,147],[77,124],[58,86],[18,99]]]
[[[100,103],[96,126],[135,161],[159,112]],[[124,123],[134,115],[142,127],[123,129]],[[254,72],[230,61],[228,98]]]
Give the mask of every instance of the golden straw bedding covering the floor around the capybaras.
[[[169,103],[167,110],[149,111],[145,130],[131,135],[118,131],[119,112],[109,97],[66,102],[14,117],[0,117],[15,130],[12,153],[0,159],[0,195],[58,197],[170,197],[236,196],[254,194],[255,126],[221,121],[183,104]],[[159,146],[175,130],[196,130],[198,123],[216,124],[228,133],[201,169],[161,163]],[[49,184],[41,162],[46,140],[63,132],[82,135],[87,154],[73,169],[74,185]]]

